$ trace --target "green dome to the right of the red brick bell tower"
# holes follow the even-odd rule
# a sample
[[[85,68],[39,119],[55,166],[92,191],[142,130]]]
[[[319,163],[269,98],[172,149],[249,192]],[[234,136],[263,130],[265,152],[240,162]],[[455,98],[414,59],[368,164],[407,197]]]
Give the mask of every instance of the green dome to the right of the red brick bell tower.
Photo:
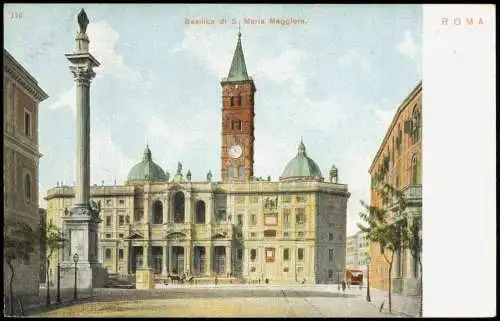
[[[306,155],[306,147],[302,140],[300,141],[299,151],[285,167],[280,181],[293,180],[323,180],[321,170],[318,164]]]

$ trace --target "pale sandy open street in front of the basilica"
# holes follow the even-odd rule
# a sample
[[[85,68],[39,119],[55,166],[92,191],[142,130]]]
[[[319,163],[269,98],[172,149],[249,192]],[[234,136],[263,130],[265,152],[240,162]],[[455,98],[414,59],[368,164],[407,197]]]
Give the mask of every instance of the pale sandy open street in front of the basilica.
[[[34,311],[40,317],[400,317],[378,312],[365,290],[336,285],[169,285],[96,289],[90,300]]]

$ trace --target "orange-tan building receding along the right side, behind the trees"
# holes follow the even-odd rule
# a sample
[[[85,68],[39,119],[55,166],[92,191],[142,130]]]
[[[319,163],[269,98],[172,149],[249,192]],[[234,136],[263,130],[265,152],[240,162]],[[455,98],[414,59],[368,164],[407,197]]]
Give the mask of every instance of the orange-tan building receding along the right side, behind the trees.
[[[390,208],[393,200],[382,199],[377,188],[388,182],[400,189],[407,200],[407,211],[422,210],[422,82],[400,105],[380,148],[372,162],[371,206]],[[389,218],[391,219],[391,218]],[[370,245],[370,284],[388,289],[389,265],[378,244]],[[393,291],[414,293],[419,277],[417,261],[409,251],[395,254],[393,263]]]

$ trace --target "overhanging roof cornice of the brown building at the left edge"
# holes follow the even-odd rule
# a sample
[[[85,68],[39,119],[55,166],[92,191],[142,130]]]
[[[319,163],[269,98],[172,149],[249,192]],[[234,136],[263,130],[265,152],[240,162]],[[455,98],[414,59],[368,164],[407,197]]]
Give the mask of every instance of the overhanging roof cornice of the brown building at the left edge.
[[[8,75],[9,78],[26,89],[31,98],[37,102],[47,99],[49,95],[38,86],[36,79],[6,49],[3,53],[4,75]]]

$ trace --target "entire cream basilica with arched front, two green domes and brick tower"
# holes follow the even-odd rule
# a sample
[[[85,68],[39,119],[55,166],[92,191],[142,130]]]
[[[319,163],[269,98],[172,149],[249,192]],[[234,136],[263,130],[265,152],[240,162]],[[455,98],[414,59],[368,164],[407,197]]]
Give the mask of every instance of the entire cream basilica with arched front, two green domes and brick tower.
[[[157,279],[336,282],[345,267],[347,185],[334,166],[325,180],[302,141],[279,180],[254,177],[256,87],[241,34],[221,86],[221,181],[211,172],[192,180],[180,163],[170,177],[146,146],[125,184],[91,187],[101,202],[99,262],[120,275],[150,268]],[[47,219],[62,226],[74,195],[70,186],[49,189]]]

